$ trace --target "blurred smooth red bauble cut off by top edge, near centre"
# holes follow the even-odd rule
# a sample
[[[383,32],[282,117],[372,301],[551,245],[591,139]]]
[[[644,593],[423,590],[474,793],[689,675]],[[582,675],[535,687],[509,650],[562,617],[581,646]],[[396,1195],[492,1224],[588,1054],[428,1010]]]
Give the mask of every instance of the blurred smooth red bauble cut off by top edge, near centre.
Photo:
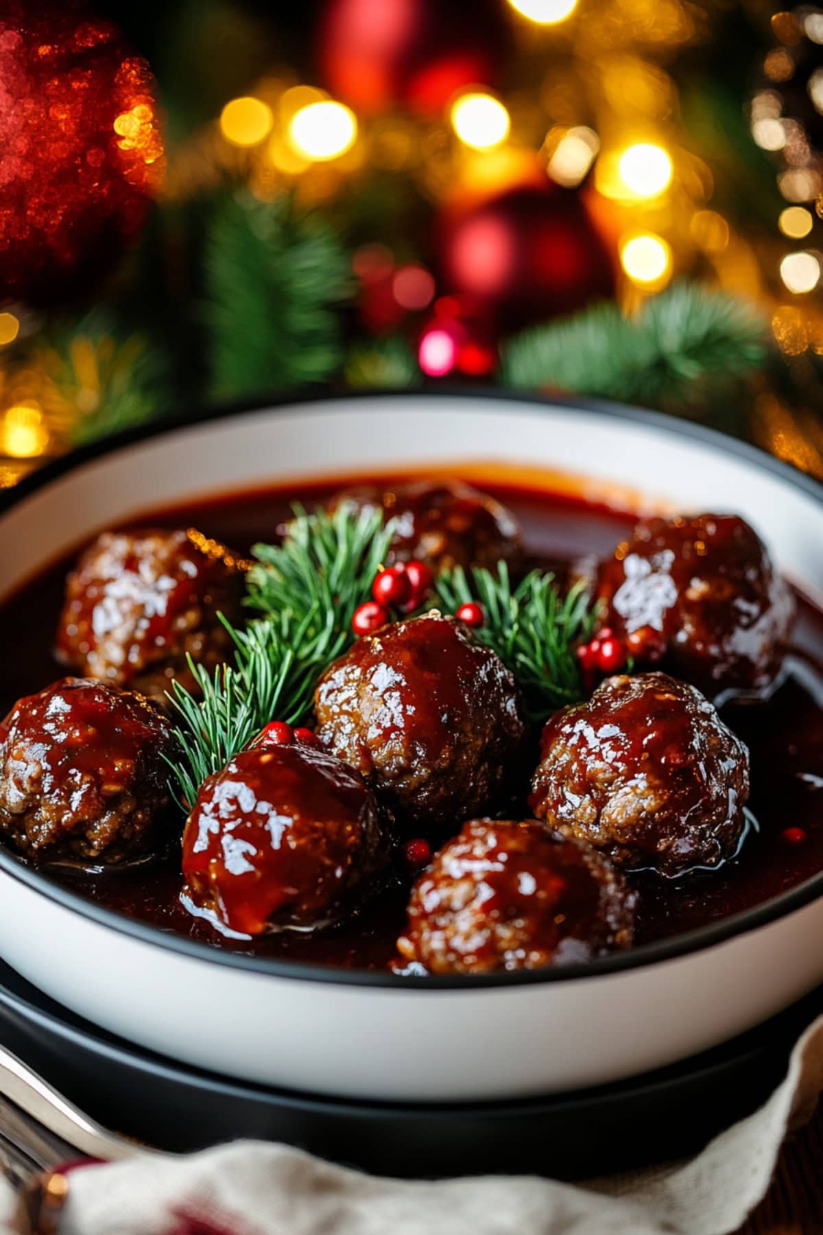
[[[325,84],[360,112],[439,111],[461,86],[491,85],[508,25],[500,0],[327,0],[317,61]]]

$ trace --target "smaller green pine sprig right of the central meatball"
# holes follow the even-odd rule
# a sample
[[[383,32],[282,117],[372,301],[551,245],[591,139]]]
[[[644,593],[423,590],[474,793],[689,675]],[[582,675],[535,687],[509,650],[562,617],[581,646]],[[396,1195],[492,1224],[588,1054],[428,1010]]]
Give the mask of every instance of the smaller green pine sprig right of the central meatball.
[[[532,571],[512,588],[508,568],[497,572],[463,567],[444,572],[437,580],[438,603],[454,613],[469,600],[479,600],[485,624],[475,636],[491,647],[511,671],[526,700],[529,719],[545,720],[558,708],[585,697],[575,647],[591,638],[595,626],[585,583],[566,594],[552,573]]]

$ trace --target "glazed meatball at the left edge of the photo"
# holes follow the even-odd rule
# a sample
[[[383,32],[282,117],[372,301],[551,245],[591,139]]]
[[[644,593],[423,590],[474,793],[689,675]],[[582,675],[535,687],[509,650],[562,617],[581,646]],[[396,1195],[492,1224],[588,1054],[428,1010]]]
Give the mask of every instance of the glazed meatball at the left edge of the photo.
[[[170,839],[172,726],[143,695],[64,678],[0,725],[0,834],[41,860],[115,863]]]

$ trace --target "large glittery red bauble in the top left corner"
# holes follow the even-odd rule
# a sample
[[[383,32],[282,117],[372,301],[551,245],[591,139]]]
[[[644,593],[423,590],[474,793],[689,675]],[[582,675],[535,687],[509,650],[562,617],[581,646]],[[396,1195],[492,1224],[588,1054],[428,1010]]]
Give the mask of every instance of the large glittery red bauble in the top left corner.
[[[88,290],[162,170],[152,74],[116,27],[73,0],[0,0],[0,300]]]

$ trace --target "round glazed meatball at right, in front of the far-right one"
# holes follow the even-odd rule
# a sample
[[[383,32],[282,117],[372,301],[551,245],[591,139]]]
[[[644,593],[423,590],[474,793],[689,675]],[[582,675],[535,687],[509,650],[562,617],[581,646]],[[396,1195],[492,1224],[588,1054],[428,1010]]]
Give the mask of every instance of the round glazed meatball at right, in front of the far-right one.
[[[529,805],[617,866],[676,876],[734,855],[748,797],[749,753],[712,704],[640,673],[548,721]]]

